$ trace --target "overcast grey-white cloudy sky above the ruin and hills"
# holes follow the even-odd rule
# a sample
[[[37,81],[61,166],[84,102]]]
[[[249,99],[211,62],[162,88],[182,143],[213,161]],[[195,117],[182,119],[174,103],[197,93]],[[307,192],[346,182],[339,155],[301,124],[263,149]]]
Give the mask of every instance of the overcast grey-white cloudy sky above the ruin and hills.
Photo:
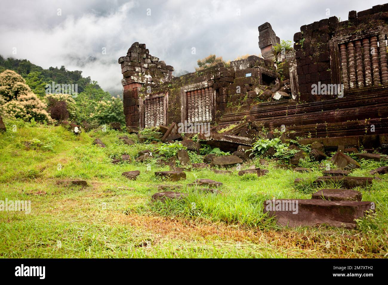
[[[197,59],[209,54],[224,60],[259,54],[257,27],[264,22],[270,22],[281,40],[292,41],[304,24],[330,16],[347,20],[350,10],[385,2],[2,0],[0,54],[28,59],[43,68],[64,65],[81,70],[103,89],[121,90],[117,60],[135,41],[145,43],[151,55],[175,71],[191,72]]]

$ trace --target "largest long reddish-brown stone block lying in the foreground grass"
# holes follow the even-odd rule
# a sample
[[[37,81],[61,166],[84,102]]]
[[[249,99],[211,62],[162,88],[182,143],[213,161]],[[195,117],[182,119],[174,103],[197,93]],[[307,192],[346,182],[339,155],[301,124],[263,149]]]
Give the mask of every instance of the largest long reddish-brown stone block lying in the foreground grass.
[[[354,228],[355,219],[374,209],[372,202],[327,201],[321,199],[274,199],[264,201],[263,212],[281,226],[329,226]]]

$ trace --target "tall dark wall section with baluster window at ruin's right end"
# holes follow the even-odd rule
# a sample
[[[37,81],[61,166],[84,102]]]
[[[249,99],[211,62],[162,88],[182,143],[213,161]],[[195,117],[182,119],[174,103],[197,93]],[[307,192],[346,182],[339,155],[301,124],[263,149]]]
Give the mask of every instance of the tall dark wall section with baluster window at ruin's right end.
[[[337,96],[312,94],[315,93],[313,85],[319,82],[320,85],[343,83],[345,90],[388,83],[384,49],[387,24],[388,4],[384,4],[358,13],[350,11],[348,21],[339,22],[337,17],[329,17],[301,26],[301,31],[294,35],[301,102]],[[371,36],[378,30],[381,30],[378,36]],[[369,55],[370,48],[376,49],[374,55]],[[369,84],[371,74],[376,78],[373,84]],[[384,74],[385,80],[381,81],[380,76]]]

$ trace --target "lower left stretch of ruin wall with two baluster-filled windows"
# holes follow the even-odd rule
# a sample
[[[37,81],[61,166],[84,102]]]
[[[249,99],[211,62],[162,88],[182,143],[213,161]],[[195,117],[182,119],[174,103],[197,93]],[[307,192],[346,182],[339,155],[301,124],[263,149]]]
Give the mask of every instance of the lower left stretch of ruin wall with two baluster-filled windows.
[[[289,80],[279,82],[274,62],[255,55],[173,77],[173,67],[134,43],[119,63],[129,131],[184,121],[213,125],[225,110],[291,98]]]

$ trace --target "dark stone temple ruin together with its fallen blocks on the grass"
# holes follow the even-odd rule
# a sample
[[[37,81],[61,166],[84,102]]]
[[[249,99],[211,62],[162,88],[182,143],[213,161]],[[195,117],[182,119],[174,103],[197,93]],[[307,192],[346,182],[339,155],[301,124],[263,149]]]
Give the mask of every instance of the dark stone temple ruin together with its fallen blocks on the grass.
[[[182,140],[184,133],[182,144],[191,150],[199,150],[200,144],[190,139],[199,133],[203,143],[233,152],[205,155],[204,163],[193,163],[192,168],[249,161],[248,152],[256,138],[278,137],[283,143],[292,139],[300,146],[311,145],[310,155],[318,162],[337,150],[331,161],[339,169],[322,171],[324,176],[317,177],[314,185],[340,182],[345,188],[321,189],[312,194],[312,199],[266,200],[263,212],[276,216],[282,226],[325,223],[354,228],[355,219],[374,211],[375,205],[361,201],[361,192],[353,188],[371,186],[380,178],[348,176],[360,164],[345,153],[374,161],[385,158],[373,150],[388,153],[388,3],[358,13],[350,11],[347,21],[330,17],[304,25],[294,35],[293,48],[280,45],[279,50],[281,40],[268,22],[258,30],[262,57],[251,55],[230,62],[230,66],[220,63],[180,77],[172,76],[173,67],[150,55],[145,44],[133,43],[127,55],[119,59],[127,130],[136,133],[159,126],[163,142]],[[205,124],[210,131],[179,131],[178,127]],[[359,147],[367,153],[358,153]],[[291,165],[276,167],[310,171],[298,167],[307,153],[295,144],[288,149],[296,150],[289,159]],[[274,152],[269,148],[265,155],[273,156]],[[145,154],[140,154],[137,161],[145,159]],[[179,150],[177,158],[184,167],[175,167],[175,157],[170,157],[168,162],[160,162],[173,171],[155,175],[173,181],[185,179],[183,170],[190,162],[186,150]],[[267,164],[260,159],[261,166]],[[213,171],[232,174],[228,170]],[[263,176],[268,169],[253,165],[238,175],[247,173]],[[388,166],[370,172],[372,176],[385,173]],[[196,180],[198,183],[220,182],[202,179]],[[298,187],[304,181],[297,178],[294,183]],[[181,199],[184,195],[167,191],[154,194],[152,199]]]

